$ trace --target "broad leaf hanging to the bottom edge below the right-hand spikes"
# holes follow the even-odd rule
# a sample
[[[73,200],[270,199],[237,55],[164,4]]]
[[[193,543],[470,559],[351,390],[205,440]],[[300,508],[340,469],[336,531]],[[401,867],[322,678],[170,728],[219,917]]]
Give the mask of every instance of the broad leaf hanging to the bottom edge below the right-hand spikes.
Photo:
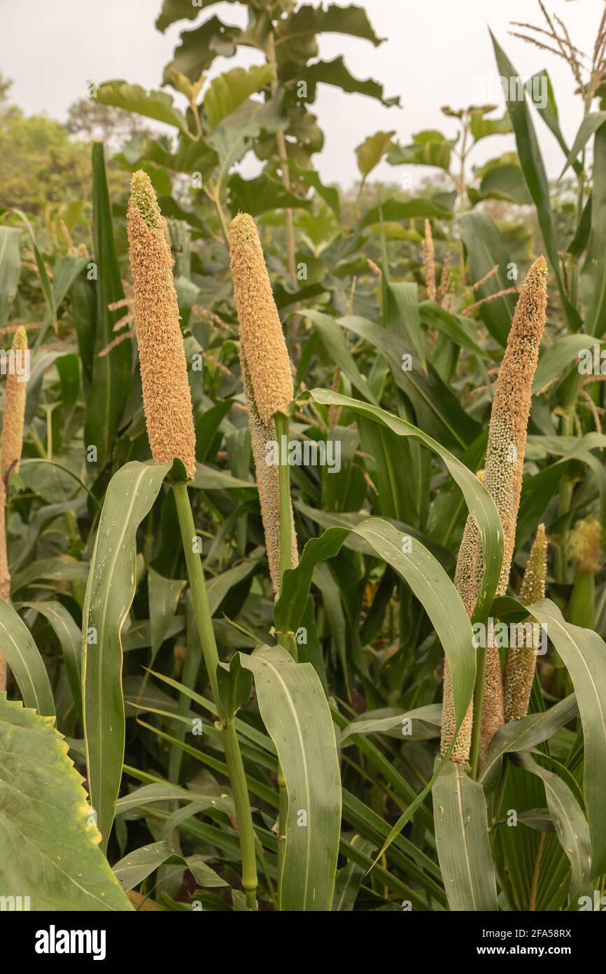
[[[434,784],[436,847],[450,910],[496,911],[497,889],[483,789],[447,762]]]

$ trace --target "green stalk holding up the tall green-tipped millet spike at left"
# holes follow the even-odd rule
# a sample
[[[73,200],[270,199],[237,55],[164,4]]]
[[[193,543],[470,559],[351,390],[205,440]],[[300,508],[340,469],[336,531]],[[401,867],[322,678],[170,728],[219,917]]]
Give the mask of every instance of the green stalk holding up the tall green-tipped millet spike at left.
[[[226,762],[230,772],[237,832],[240,851],[242,853],[242,886],[246,894],[247,907],[255,910],[257,908],[257,860],[250,799],[235,726],[233,720],[227,718],[219,695],[219,685],[217,682],[219,654],[217,653],[217,644],[215,642],[215,634],[212,627],[210,609],[208,607],[202,563],[199,554],[196,554],[193,549],[193,543],[196,539],[196,526],[194,524],[192,507],[190,506],[187,484],[176,484],[174,487],[174,497],[188,569],[188,578],[194,600],[197,631],[202,646],[204,663],[208,672],[208,679],[210,680],[210,688],[221,724],[220,730],[222,731]]]

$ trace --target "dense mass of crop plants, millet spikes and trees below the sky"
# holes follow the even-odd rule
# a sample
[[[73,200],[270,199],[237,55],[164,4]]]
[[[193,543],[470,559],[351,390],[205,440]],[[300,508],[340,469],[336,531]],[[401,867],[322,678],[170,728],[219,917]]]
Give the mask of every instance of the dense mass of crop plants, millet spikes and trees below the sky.
[[[321,83],[397,102],[318,56],[324,32],[378,45],[365,11],[246,0],[236,28],[201,6],[163,0],[158,29],[196,21],[164,69],[174,94],[108,81],[72,110],[72,132],[120,145],[2,109],[0,149],[31,149],[1,187],[3,371],[23,328],[31,366],[20,457],[11,374],[3,417],[0,894],[594,909],[604,20],[588,62],[544,28],[581,95],[571,146],[548,72],[524,87],[493,39],[505,114],[447,107],[448,134],[409,145],[371,134],[352,195],[313,168],[313,103]],[[208,82],[241,47],[259,63]],[[473,169],[508,132],[516,151]],[[372,182],[384,159],[393,187]],[[417,166],[436,178],[398,188]],[[494,432],[512,416],[513,473]],[[48,843],[61,867],[42,882]]]

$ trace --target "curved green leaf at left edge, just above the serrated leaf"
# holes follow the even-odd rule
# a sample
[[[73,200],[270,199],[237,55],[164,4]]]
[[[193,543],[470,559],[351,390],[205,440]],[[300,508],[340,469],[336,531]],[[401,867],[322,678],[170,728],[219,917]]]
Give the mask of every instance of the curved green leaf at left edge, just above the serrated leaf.
[[[49,676],[38,647],[15,609],[0,599],[0,646],[17,680],[26,707],[45,717],[54,717],[54,700]]]

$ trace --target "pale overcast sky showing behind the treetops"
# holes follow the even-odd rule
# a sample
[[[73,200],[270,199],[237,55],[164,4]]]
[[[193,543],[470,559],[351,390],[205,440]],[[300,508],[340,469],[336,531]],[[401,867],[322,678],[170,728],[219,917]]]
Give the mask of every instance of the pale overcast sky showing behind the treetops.
[[[314,111],[326,144],[315,163],[325,181],[349,185],[356,178],[354,149],[374,131],[393,129],[403,144],[422,129],[437,128],[452,136],[455,122],[442,115],[442,105],[477,103],[482,84],[487,100],[493,100],[497,72],[488,26],[522,78],[548,68],[562,130],[569,143],[574,139],[581,105],[573,94],[570,69],[559,58],[508,35],[510,20],[542,22],[536,0],[366,0],[364,4],[360,0],[360,4],[376,33],[387,40],[374,48],[367,41],[325,35],[320,54],[325,58],[343,54],[355,76],[380,81],[385,94],[400,95],[402,107],[387,109],[374,99],[321,85]],[[586,51],[592,49],[603,7],[604,0],[547,0],[548,11],[565,20],[573,43]],[[192,21],[181,21],[160,34],[154,26],[159,11],[160,0],[0,0],[1,70],[15,81],[14,100],[27,113],[46,112],[64,119],[68,105],[87,94],[89,79],[98,83],[124,78],[146,88],[159,87],[162,67],[171,59],[179,33],[194,26]],[[228,23],[243,23],[243,8],[231,3],[202,12],[196,22],[211,13]],[[212,74],[258,60],[254,52],[219,58]],[[176,96],[177,101],[180,98]],[[561,151],[540,121],[537,130],[549,174],[555,177],[563,162]],[[481,163],[513,147],[513,136],[487,139],[471,162]],[[249,168],[245,174],[252,171]],[[402,181],[403,173],[402,167],[385,163],[375,170],[376,176],[396,181]]]

